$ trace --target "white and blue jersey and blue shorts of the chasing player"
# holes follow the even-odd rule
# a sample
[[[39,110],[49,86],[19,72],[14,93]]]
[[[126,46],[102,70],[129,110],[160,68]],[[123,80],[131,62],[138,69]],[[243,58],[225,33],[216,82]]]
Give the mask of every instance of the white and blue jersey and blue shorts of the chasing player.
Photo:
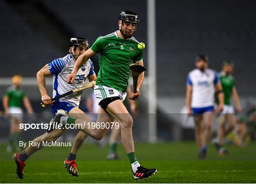
[[[66,55],[64,58],[55,59],[48,64],[48,68],[51,74],[53,74],[53,98],[83,86],[87,75],[94,74],[94,67],[91,59],[88,59],[88,61],[86,61],[77,71],[74,83],[68,84],[66,82],[66,77],[72,72],[74,64],[75,62],[73,61],[71,54]],[[55,111],[60,108],[69,112],[74,107],[78,107],[81,95],[82,91],[56,100],[52,107],[52,113],[56,113]]]

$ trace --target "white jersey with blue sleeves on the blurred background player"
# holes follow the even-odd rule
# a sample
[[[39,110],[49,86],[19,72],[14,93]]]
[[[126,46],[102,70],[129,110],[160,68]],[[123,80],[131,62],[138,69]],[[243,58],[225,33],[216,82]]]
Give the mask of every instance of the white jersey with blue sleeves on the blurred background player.
[[[213,108],[215,85],[218,83],[219,77],[214,70],[192,70],[187,78],[187,85],[192,86],[192,109]]]

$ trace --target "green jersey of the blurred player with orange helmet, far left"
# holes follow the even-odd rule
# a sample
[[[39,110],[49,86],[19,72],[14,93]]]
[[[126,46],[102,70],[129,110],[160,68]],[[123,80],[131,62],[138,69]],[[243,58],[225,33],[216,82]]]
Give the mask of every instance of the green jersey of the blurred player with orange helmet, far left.
[[[11,86],[7,89],[5,95],[9,97],[9,107],[21,108],[23,98],[25,96],[25,93],[21,89],[17,89],[15,86]]]

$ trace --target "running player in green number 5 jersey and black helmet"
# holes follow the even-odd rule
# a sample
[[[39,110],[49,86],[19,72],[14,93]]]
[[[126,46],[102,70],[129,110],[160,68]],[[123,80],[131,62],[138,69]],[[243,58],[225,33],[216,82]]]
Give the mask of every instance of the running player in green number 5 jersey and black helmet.
[[[119,30],[100,36],[90,49],[79,56],[72,73],[66,79],[69,84],[72,84],[82,64],[96,53],[101,54],[100,70],[94,86],[94,94],[100,106],[97,122],[112,122],[114,119],[119,122],[121,141],[130,160],[133,176],[135,179],[142,179],[155,174],[156,169],[142,167],[137,161],[132,136],[133,119],[122,102],[126,97],[129,65],[136,62],[143,66],[142,50],[138,49],[138,41],[133,37],[138,22],[136,13],[122,11],[119,15]],[[135,99],[140,97],[143,80],[144,72],[139,75],[136,92],[132,94]],[[87,127],[83,131],[97,139],[102,138],[108,129],[95,130]]]

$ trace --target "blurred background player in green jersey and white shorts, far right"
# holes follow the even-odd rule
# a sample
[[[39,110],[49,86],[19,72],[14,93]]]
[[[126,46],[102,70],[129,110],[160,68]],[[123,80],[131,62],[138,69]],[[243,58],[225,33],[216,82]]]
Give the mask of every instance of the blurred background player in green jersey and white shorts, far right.
[[[231,96],[233,96],[238,113],[242,112],[238,92],[235,87],[235,81],[233,76],[231,75],[232,72],[233,63],[229,61],[224,61],[222,71],[219,74],[219,79],[224,92],[224,108],[218,117],[218,138],[214,141],[214,144],[218,149],[220,155],[227,153],[226,149],[223,146],[224,136],[229,134],[229,132],[231,132],[236,125],[234,108],[230,104]],[[216,103],[219,104],[219,101],[216,100]],[[226,123],[228,123],[228,126],[226,126]]]

